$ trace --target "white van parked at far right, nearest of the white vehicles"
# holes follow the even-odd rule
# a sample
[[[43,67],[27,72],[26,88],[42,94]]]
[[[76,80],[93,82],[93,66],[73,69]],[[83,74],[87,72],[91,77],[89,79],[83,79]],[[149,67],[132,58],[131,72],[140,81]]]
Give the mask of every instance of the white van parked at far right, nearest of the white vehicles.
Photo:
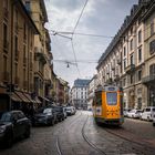
[[[143,110],[142,120],[153,121],[153,116],[155,114],[155,106],[147,106]]]

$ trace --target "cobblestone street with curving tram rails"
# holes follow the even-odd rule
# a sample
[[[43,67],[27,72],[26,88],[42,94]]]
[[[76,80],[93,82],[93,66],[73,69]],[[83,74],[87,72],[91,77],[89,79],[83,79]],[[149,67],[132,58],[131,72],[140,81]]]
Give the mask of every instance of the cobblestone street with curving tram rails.
[[[154,130],[151,122],[128,118],[121,128],[97,126],[90,112],[79,111],[54,126],[32,127],[30,138],[0,155],[154,155]]]

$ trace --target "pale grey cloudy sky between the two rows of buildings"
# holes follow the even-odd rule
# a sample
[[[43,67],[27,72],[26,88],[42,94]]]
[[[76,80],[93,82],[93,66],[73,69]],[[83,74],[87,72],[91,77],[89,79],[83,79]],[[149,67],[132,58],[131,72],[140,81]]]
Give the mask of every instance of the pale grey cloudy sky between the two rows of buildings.
[[[49,18],[45,27],[51,33],[55,74],[68,81],[70,86],[73,85],[74,80],[78,78],[91,79],[96,73],[96,62],[106,50],[112,38],[74,34],[72,41],[78,61],[78,65],[75,65],[71,40],[58,34],[53,35],[52,30],[72,32],[85,0],[44,1]],[[114,37],[121,28],[125,16],[130,14],[132,6],[136,3],[137,0],[89,0],[75,33]],[[64,60],[64,62],[58,60]],[[66,68],[65,62],[70,62],[70,68]]]

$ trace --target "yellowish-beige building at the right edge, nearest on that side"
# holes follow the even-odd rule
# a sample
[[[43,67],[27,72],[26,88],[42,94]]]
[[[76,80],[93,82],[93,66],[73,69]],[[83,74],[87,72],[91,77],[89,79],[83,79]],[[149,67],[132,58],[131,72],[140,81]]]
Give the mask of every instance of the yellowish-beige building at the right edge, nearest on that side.
[[[143,17],[144,21],[144,99],[147,105],[155,106],[155,3]]]

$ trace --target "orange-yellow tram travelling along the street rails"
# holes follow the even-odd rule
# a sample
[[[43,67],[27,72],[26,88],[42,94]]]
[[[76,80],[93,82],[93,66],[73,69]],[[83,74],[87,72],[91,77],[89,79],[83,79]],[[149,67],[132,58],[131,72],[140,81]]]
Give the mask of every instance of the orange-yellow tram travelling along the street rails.
[[[95,91],[93,116],[96,123],[121,125],[123,116],[123,91],[118,86],[104,85]]]

